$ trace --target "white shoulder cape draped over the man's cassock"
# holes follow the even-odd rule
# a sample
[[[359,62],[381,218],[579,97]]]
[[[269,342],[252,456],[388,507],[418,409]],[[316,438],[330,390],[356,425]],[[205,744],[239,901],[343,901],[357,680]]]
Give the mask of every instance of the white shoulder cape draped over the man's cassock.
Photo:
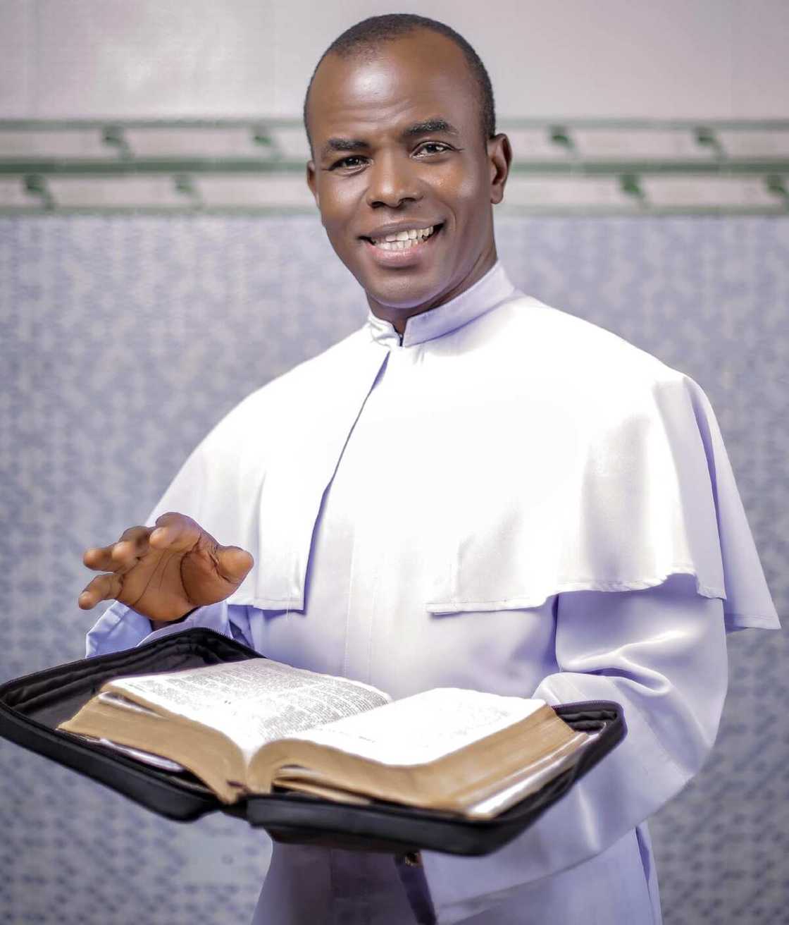
[[[187,513],[249,549],[231,603],[303,610],[322,496],[385,358],[362,327],[253,392],[156,505],[150,524]],[[730,630],[780,627],[715,413],[689,376],[523,296],[422,360],[408,426],[435,462],[427,611],[536,607],[687,573],[724,601]]]

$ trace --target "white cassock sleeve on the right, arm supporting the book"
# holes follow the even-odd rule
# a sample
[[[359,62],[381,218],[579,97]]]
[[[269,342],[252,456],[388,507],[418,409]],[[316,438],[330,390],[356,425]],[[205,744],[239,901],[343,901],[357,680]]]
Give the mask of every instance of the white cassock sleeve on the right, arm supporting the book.
[[[710,754],[727,685],[720,598],[701,597],[692,576],[673,575],[637,591],[559,595],[556,621],[559,672],[528,693],[552,704],[614,700],[627,735],[501,850],[425,852],[439,922],[464,921],[600,854],[679,793]]]

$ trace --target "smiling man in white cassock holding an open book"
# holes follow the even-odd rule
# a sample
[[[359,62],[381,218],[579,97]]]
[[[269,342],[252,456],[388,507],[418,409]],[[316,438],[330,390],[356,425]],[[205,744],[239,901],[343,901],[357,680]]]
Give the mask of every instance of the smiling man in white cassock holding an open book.
[[[394,697],[619,701],[625,742],[537,825],[416,865],[441,922],[654,925],[644,820],[710,752],[726,628],[778,625],[709,401],[510,284],[492,228],[509,142],[454,32],[359,23],[305,120],[368,319],[217,425],[155,528],[86,552],[103,574],[80,606],[117,602],[88,652],[210,625]],[[255,918],[409,920],[391,857],[293,845],[274,846]]]

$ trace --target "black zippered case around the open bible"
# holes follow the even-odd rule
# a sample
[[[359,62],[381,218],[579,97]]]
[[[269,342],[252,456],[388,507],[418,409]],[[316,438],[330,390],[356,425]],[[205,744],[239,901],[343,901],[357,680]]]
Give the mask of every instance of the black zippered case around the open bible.
[[[233,639],[197,628],[162,636],[138,648],[57,665],[0,686],[0,736],[73,768],[168,819],[189,821],[219,810],[246,819],[281,842],[392,854],[427,849],[485,855],[539,819],[626,733],[623,710],[617,703],[601,700],[554,707],[575,729],[599,733],[575,767],[495,819],[465,820],[438,810],[387,803],[351,806],[295,793],[252,796],[225,806],[191,775],[159,771],[56,729],[112,678],[260,658]]]

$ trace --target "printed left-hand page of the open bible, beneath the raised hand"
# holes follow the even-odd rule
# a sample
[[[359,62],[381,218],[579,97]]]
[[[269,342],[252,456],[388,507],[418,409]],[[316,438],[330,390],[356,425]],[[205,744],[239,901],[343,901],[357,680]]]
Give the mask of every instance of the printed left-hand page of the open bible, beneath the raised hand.
[[[370,685],[249,659],[117,678],[110,690],[217,729],[246,759],[267,742],[389,702]]]

